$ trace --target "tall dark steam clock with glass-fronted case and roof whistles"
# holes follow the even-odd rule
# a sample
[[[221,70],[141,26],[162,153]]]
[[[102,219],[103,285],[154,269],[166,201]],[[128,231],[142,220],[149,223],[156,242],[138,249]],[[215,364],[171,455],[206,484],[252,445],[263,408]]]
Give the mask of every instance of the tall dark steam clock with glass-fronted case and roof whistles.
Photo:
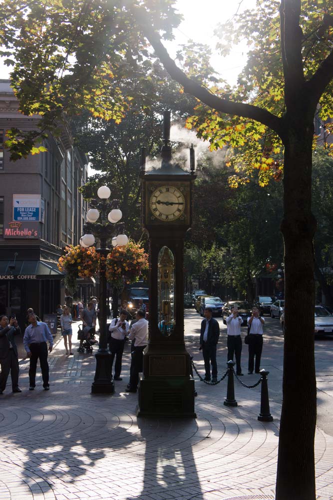
[[[164,113],[162,162],[145,170],[141,152],[142,225],[149,236],[149,340],[143,354],[137,415],[190,416],[194,380],[184,341],[184,236],[192,222],[190,171],[172,161],[170,112]]]

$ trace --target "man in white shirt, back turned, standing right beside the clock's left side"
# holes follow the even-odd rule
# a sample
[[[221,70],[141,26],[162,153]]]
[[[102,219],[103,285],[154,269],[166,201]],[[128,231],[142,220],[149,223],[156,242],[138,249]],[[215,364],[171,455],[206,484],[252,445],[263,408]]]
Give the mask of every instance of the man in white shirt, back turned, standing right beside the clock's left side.
[[[145,312],[139,309],[135,317],[137,321],[132,325],[128,335],[130,340],[134,339],[134,347],[131,352],[130,377],[126,392],[136,392],[139,373],[143,370],[143,349],[148,342],[148,321],[145,319]]]

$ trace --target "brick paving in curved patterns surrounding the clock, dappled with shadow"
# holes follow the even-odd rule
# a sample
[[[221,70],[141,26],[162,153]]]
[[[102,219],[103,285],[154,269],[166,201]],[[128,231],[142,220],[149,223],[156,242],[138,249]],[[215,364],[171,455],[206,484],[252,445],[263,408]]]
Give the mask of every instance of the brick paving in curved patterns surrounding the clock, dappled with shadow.
[[[39,368],[35,390],[27,390],[22,360],[23,392],[12,394],[9,381],[1,396],[0,500],[274,498],[281,406],[271,401],[274,421],[259,422],[260,386],[249,395],[237,384],[238,406],[227,407],[226,382],[198,382],[196,419],[136,418],[137,394],[124,392],[129,346],[123,380],[108,396],[90,394],[94,356],[77,353],[75,344],[67,357],[60,339],[49,356],[50,391],[42,389]],[[332,449],[333,438],[318,429],[324,500],[333,499]]]

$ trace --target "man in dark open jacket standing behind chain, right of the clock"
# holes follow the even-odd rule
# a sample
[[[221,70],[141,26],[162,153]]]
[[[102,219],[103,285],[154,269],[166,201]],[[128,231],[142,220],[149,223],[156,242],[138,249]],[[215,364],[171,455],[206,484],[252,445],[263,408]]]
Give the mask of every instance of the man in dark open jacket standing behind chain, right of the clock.
[[[205,380],[211,379],[210,364],[212,365],[212,381],[217,381],[217,363],[216,363],[216,346],[220,336],[220,325],[213,318],[213,310],[211,307],[206,307],[204,316],[201,322],[200,330],[200,349],[205,361]]]

